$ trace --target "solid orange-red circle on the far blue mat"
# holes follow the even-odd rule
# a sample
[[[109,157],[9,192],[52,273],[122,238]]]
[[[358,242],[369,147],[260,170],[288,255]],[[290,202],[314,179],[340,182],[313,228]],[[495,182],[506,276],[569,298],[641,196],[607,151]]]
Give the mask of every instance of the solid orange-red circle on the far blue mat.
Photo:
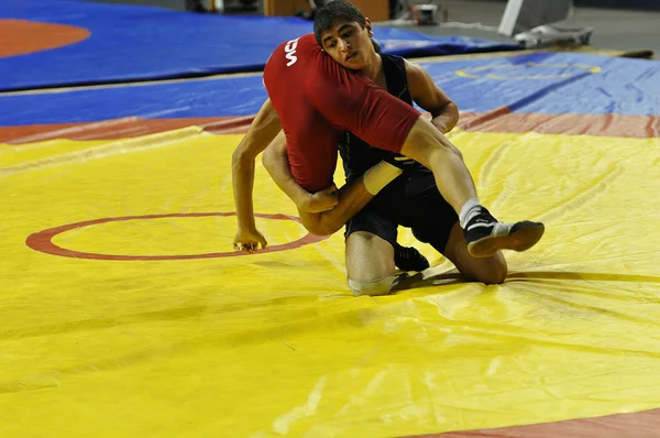
[[[65,47],[91,35],[87,29],[28,20],[0,20],[0,57]]]

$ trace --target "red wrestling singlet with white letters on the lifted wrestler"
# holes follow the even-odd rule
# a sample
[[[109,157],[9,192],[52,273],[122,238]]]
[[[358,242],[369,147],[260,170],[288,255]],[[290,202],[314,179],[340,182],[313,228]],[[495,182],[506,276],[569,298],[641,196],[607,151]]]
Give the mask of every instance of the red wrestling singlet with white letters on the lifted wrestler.
[[[264,85],[286,135],[292,174],[312,193],[332,184],[337,135],[350,131],[371,145],[400,152],[420,116],[367,77],[336,63],[314,34],[273,52]]]

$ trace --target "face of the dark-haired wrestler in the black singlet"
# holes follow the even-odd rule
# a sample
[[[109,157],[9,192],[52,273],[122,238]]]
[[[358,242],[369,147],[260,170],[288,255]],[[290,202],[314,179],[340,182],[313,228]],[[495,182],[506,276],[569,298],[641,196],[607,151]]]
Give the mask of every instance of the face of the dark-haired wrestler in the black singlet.
[[[338,20],[332,28],[322,33],[321,42],[332,59],[346,68],[359,70],[373,59],[373,35],[369,19],[364,28],[355,21]]]

